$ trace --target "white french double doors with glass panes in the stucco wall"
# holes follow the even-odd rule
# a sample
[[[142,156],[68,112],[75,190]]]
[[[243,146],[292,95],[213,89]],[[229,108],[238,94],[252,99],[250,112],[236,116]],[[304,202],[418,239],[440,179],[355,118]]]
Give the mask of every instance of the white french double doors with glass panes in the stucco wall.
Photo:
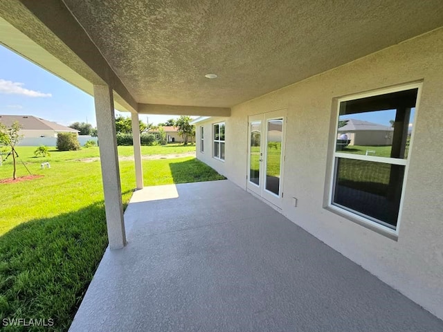
[[[246,187],[281,206],[284,165],[285,111],[248,118],[248,174]]]

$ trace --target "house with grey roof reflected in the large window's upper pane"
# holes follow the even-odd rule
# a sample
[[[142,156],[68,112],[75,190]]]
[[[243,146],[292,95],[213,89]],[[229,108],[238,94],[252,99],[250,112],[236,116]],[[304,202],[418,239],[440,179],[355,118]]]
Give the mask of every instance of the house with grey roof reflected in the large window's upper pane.
[[[350,140],[350,145],[392,145],[394,128],[373,122],[343,119],[347,121],[343,127],[338,128],[338,138],[345,134]]]

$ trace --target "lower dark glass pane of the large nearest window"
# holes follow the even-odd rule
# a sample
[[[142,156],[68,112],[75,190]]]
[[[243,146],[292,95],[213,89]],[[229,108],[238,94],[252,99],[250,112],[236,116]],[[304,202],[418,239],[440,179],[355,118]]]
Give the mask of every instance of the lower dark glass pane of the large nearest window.
[[[332,203],[395,229],[405,167],[347,158],[337,158],[336,167]]]

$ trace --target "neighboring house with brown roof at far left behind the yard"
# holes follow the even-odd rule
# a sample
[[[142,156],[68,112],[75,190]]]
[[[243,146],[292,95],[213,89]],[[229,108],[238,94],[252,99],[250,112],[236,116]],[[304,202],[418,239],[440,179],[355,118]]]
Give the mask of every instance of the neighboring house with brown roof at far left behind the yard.
[[[37,116],[0,116],[0,122],[10,126],[15,121],[21,124],[20,134],[24,138],[19,145],[38,146],[38,145],[55,145],[57,133],[75,133],[78,136],[78,130],[65,127],[56,122],[44,120]]]

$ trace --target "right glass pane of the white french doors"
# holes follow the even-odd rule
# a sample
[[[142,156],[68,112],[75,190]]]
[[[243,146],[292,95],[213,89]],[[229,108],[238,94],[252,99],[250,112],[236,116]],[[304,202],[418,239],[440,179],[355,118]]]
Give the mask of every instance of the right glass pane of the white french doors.
[[[266,147],[266,190],[280,194],[283,119],[268,120]]]

